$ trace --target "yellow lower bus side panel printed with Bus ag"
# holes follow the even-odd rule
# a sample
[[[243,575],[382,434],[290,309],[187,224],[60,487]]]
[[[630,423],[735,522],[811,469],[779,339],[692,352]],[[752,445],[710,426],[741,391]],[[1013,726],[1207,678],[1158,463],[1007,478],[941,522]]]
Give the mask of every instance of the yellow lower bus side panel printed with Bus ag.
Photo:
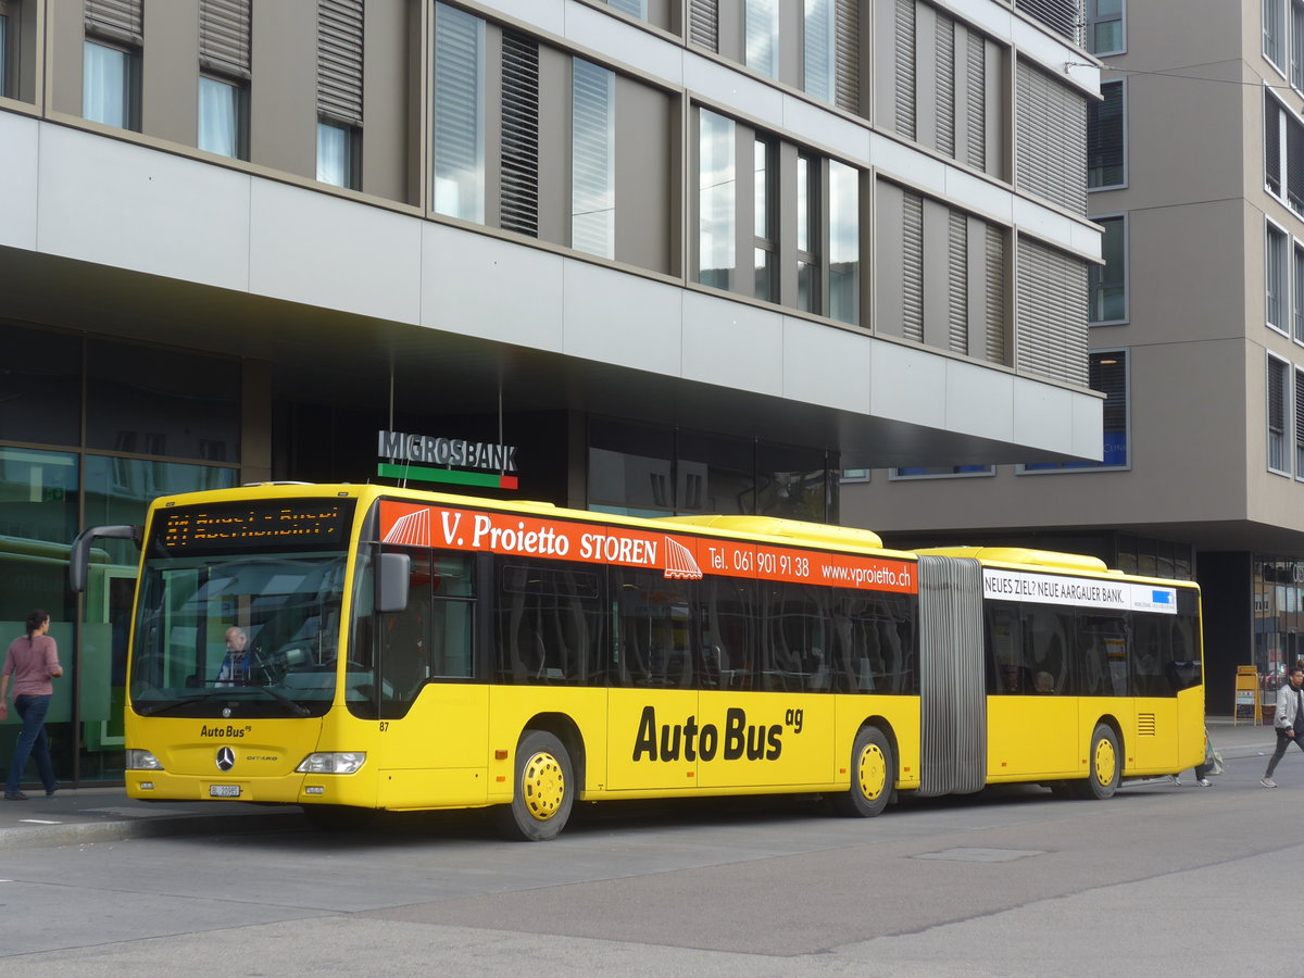
[[[703,789],[833,782],[833,696],[707,691],[700,709],[700,722],[720,732],[719,751],[698,765]]]

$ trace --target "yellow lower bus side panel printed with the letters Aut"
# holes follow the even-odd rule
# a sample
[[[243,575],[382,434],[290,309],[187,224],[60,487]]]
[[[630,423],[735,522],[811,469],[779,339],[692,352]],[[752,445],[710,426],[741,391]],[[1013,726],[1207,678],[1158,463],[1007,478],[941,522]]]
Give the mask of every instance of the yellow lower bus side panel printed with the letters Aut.
[[[698,788],[698,751],[703,741],[699,694],[615,689],[608,690],[606,696],[610,746],[606,788],[613,792]]]

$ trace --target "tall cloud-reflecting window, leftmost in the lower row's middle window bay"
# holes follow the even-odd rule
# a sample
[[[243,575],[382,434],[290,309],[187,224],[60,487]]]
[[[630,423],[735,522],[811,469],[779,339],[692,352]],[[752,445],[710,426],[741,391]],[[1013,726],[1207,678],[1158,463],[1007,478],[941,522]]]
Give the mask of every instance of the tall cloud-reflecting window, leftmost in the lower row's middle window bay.
[[[698,282],[728,289],[737,267],[734,123],[703,108],[698,134]]]

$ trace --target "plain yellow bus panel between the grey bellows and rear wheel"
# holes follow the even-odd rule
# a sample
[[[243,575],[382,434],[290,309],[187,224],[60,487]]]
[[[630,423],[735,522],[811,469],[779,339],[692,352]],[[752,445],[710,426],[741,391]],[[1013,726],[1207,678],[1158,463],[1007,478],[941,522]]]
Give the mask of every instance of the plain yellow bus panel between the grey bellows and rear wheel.
[[[1035,781],[1082,772],[1074,696],[988,696],[987,780]],[[1090,735],[1090,733],[1088,733]]]

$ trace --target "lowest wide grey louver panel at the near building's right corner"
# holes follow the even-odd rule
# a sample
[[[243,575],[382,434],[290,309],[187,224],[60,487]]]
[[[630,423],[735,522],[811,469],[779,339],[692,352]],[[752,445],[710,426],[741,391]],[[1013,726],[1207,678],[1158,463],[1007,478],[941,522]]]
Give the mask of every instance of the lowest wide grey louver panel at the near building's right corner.
[[[1020,237],[1016,329],[1020,370],[1085,387],[1086,263]]]

